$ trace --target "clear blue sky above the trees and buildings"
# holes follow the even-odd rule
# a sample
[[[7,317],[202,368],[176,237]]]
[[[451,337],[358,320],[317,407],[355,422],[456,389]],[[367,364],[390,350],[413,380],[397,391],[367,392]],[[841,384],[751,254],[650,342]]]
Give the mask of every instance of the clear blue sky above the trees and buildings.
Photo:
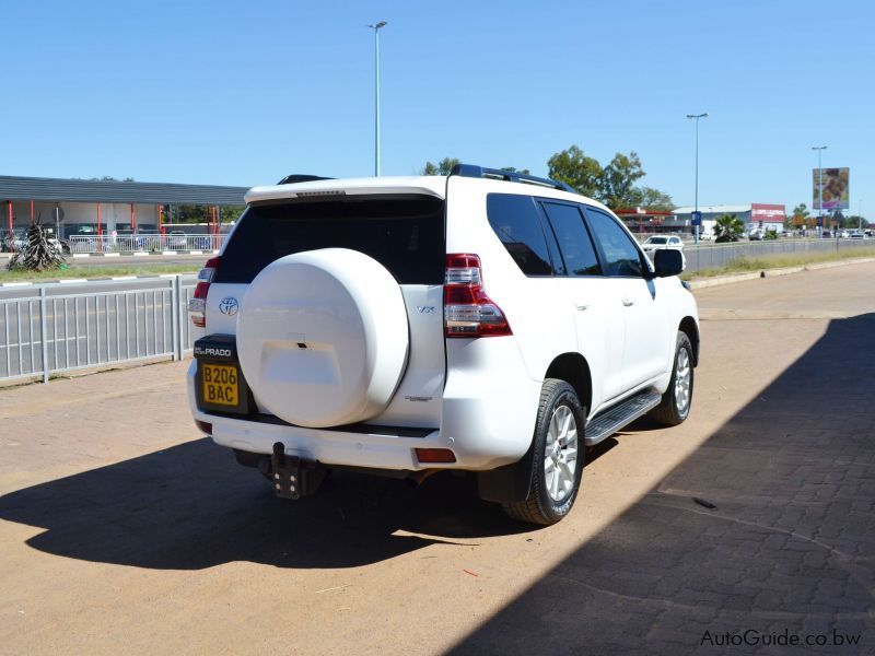
[[[810,206],[812,145],[875,215],[875,27],[865,1],[142,3],[7,0],[0,174],[256,185],[444,156],[546,174],[576,143],[639,153],[702,204]]]

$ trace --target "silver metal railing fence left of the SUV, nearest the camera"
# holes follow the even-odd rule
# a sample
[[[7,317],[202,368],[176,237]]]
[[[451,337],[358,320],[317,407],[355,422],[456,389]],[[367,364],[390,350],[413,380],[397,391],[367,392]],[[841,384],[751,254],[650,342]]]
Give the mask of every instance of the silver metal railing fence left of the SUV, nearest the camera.
[[[0,296],[0,380],[171,358],[192,348],[197,279],[28,285]],[[13,295],[14,294],[14,295]]]

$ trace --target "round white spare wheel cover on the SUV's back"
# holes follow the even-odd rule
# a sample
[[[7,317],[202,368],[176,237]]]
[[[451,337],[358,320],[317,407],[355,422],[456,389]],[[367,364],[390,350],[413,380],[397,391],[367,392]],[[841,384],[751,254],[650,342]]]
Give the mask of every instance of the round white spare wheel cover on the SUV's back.
[[[237,317],[240,364],[256,399],[301,426],[381,414],[404,375],[408,343],[398,283],[347,248],[276,260],[252,282]]]

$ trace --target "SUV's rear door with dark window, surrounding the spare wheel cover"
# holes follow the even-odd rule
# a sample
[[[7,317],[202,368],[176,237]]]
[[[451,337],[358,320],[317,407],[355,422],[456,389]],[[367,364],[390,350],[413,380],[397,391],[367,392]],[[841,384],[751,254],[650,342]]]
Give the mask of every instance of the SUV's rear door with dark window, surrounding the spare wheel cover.
[[[401,383],[386,411],[372,423],[439,426],[446,373],[444,243],[444,201],[421,194],[253,203],[220,256],[207,297],[207,332],[236,335],[236,316],[226,312],[234,304],[222,301],[242,303],[249,283],[270,262],[319,248],[363,253],[398,282],[410,332]]]

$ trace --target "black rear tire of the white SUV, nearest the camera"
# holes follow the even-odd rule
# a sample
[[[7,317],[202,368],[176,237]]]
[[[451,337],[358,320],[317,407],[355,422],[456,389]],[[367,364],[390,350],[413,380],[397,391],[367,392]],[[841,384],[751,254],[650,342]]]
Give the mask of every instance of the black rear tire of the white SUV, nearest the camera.
[[[557,411],[565,413],[565,408],[576,424],[576,454],[574,460],[573,482],[571,488],[564,492],[559,500],[555,500],[548,490],[548,476],[545,471],[546,450],[548,446],[548,433],[550,422]],[[586,410],[581,406],[574,388],[564,380],[547,378],[540,391],[540,405],[538,406],[538,418],[535,423],[535,434],[532,440],[533,457],[530,487],[528,497],[525,501],[503,504],[504,512],[514,519],[549,526],[561,520],[571,512],[574,500],[581,485],[581,475],[583,473],[585,447],[583,443],[584,427],[586,425]],[[561,450],[561,449],[560,449]],[[561,456],[560,456],[561,457]],[[565,462],[563,460],[563,462]],[[567,465],[567,462],[565,462]],[[559,470],[553,469],[553,477],[558,476]]]

